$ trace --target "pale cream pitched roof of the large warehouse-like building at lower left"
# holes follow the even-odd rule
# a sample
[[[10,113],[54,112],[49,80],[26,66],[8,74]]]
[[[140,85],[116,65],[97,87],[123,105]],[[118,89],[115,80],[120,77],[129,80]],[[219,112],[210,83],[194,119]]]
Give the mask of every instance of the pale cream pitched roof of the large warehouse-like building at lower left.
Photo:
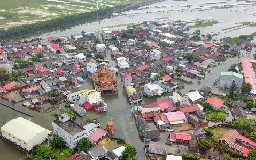
[[[22,117],[9,121],[5,125],[3,125],[1,129],[11,133],[13,136],[25,142],[28,142],[29,140],[31,140],[38,133],[41,133],[44,131],[47,131],[48,134],[51,133],[51,131],[41,127],[40,125],[30,122]]]

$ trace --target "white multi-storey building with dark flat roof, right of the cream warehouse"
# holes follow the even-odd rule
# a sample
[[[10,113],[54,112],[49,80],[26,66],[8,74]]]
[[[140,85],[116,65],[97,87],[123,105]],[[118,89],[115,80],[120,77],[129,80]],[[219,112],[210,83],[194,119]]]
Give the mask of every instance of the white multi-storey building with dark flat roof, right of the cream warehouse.
[[[63,138],[65,145],[72,150],[76,148],[79,140],[87,137],[87,130],[71,121],[67,113],[61,114],[59,119],[52,122],[52,129],[53,134]]]

